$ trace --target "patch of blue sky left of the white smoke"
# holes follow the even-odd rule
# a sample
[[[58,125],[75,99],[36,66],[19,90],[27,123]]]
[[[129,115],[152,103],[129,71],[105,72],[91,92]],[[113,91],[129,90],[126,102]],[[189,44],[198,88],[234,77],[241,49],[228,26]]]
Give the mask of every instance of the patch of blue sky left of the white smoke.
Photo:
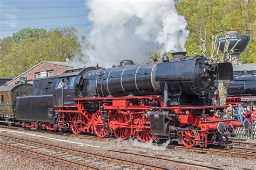
[[[50,30],[74,26],[86,35],[91,23],[85,0],[0,0],[0,38],[12,36],[23,27]]]

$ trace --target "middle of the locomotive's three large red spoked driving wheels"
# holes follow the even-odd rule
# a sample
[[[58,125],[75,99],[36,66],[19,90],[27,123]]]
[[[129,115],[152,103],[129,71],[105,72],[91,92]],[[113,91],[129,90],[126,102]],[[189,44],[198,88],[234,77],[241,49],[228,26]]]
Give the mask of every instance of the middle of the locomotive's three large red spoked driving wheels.
[[[129,116],[128,115],[124,115],[124,114],[119,114],[118,112],[116,112],[113,116],[113,120],[117,121],[118,124],[123,124],[127,121],[129,121]],[[115,130],[113,130],[114,136],[116,136],[116,138],[125,140],[127,137],[129,137],[130,133],[131,133],[131,129],[130,128],[117,128]]]

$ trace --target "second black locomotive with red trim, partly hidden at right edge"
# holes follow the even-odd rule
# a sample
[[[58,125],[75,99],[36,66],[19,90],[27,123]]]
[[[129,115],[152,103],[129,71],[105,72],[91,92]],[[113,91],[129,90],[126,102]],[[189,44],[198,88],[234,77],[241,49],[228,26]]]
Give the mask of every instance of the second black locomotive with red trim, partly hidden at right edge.
[[[228,84],[227,104],[256,104],[256,76],[239,76]]]

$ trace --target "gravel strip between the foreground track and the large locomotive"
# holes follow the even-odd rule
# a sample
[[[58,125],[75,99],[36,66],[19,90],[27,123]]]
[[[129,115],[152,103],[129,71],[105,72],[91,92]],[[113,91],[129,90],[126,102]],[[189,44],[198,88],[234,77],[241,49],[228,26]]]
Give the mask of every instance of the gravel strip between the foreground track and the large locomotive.
[[[85,150],[85,151],[90,151],[94,153],[115,156],[123,159],[142,161],[147,164],[154,164],[154,165],[164,166],[167,168],[197,169],[198,167],[181,165],[179,163],[174,163],[168,160],[151,159],[151,158],[142,157],[138,155],[118,153],[110,150],[133,152],[133,153],[138,153],[143,155],[151,155],[151,156],[166,158],[170,160],[178,160],[183,162],[191,162],[199,165],[212,166],[213,168],[254,169],[256,164],[256,161],[253,159],[237,158],[237,157],[230,157],[230,156],[210,154],[210,153],[196,153],[196,152],[188,152],[188,151],[170,150],[165,148],[164,146],[155,146],[152,144],[140,143],[137,140],[124,140],[124,141],[96,140],[96,139],[87,139],[87,138],[80,138],[80,137],[73,137],[73,136],[60,136],[58,134],[42,133],[42,132],[28,131],[28,130],[21,131],[21,130],[13,130],[13,129],[10,130],[5,128],[0,128],[0,130],[2,130],[0,131],[0,134],[5,134],[12,137],[37,140],[37,141],[42,141],[44,143],[71,147],[77,150]],[[10,131],[13,131],[13,132],[10,132]],[[15,133],[14,131],[28,133],[28,134],[19,134],[19,133]],[[29,134],[34,136],[31,136]],[[1,159],[5,159],[5,157],[6,157],[5,155],[2,155]]]

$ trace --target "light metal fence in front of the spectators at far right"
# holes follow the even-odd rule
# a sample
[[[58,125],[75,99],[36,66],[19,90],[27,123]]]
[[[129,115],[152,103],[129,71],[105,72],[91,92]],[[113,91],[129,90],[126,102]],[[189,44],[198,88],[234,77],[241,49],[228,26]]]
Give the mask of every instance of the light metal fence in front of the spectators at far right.
[[[256,140],[256,123],[250,123],[250,128],[245,130],[243,127],[237,127],[234,136],[238,138],[255,139]]]

